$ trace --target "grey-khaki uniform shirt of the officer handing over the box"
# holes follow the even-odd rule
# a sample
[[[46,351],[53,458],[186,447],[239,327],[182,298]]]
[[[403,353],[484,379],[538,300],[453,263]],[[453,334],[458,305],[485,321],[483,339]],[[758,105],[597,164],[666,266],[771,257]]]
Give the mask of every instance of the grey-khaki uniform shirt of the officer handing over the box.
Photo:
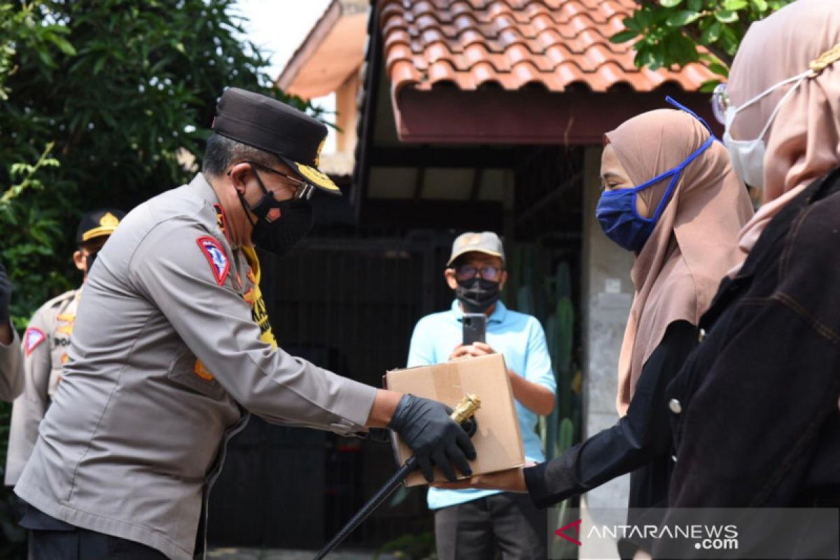
[[[265,342],[254,270],[228,243],[217,203],[199,174],[108,239],[15,486],[56,519],[177,560],[192,558],[202,494],[243,409],[346,434],[363,428],[375,397]]]

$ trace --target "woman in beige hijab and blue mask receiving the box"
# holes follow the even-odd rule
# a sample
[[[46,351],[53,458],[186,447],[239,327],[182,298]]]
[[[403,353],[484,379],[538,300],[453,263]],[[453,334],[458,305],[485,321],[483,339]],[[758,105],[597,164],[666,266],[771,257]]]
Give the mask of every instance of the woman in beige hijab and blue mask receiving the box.
[[[528,491],[545,507],[632,472],[632,508],[666,505],[673,462],[665,386],[696,346],[717,285],[738,263],[738,230],[753,211],[727,150],[693,113],[643,113],[606,133],[605,144],[596,217],[637,255],[619,359],[621,418],[548,463],[444,487]],[[633,555],[632,546],[620,548]]]

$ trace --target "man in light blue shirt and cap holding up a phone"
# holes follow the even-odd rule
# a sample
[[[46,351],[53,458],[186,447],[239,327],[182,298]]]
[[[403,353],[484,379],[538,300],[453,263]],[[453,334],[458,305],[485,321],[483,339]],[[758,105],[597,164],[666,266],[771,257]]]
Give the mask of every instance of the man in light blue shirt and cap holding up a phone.
[[[408,367],[501,353],[516,399],[528,461],[543,461],[534,428],[537,415],[554,409],[556,384],[543,327],[499,301],[507,281],[505,253],[492,232],[464,233],[455,239],[444,275],[455,292],[449,311],[423,317],[414,327]],[[486,343],[464,345],[465,312],[487,316]],[[527,494],[480,489],[428,489],[434,510],[439,560],[546,557],[546,516]]]

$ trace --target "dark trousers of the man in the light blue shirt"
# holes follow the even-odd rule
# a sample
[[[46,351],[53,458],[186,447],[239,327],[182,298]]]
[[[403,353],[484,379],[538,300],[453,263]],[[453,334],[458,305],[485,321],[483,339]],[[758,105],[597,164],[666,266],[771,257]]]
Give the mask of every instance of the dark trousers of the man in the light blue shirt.
[[[527,494],[504,492],[435,511],[438,560],[545,560],[548,517]]]

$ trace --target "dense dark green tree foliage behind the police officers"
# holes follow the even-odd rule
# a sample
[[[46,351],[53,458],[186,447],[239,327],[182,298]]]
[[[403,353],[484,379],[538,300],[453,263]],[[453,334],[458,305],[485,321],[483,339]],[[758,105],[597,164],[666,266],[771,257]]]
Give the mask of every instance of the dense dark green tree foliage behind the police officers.
[[[18,327],[80,280],[82,212],[192,175],[183,154],[200,157],[225,86],[312,109],[266,86],[235,3],[0,0],[0,259]]]

